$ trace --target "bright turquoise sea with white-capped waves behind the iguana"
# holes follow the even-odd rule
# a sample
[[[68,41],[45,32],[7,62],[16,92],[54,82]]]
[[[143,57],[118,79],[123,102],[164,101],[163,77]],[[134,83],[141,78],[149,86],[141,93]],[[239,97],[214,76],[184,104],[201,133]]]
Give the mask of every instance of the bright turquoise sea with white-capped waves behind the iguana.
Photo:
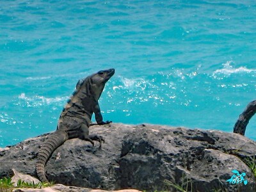
[[[232,132],[256,99],[255,22],[255,1],[2,0],[0,147],[54,131],[106,68],[104,120]]]

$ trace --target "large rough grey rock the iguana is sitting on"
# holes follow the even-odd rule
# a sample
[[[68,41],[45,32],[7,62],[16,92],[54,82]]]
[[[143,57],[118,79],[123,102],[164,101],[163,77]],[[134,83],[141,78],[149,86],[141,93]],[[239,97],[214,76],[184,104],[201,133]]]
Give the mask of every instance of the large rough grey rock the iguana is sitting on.
[[[95,125],[90,134],[103,136],[106,143],[99,148],[99,143],[92,147],[79,139],[66,141],[45,167],[49,180],[108,190],[174,191],[165,180],[188,186],[189,191],[256,189],[252,170],[241,160],[252,161],[256,142],[239,134],[124,124]],[[35,176],[36,152],[46,136],[0,151],[0,177],[12,176],[12,168]],[[246,173],[248,184],[226,182],[234,175],[232,170]]]

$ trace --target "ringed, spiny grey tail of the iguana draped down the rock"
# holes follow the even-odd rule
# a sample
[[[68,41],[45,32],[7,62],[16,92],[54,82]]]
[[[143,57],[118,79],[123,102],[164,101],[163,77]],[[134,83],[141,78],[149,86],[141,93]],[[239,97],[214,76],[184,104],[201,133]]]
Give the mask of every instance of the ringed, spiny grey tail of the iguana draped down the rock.
[[[49,182],[45,177],[45,164],[51,154],[61,144],[68,140],[68,134],[65,131],[56,131],[49,135],[49,138],[40,146],[36,161],[36,174],[42,182]]]

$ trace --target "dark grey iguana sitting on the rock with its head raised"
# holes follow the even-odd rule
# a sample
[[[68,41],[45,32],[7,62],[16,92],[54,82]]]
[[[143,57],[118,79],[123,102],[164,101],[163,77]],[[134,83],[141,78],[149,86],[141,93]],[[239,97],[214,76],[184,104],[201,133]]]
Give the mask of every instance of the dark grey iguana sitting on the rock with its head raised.
[[[115,74],[115,69],[100,70],[92,76],[78,81],[76,90],[61,112],[58,127],[55,132],[49,134],[48,138],[40,146],[36,161],[36,174],[42,182],[48,182],[45,177],[45,164],[51,154],[65,141],[79,138],[81,140],[99,141],[100,147],[104,139],[101,136],[89,135],[89,127],[92,114],[95,113],[97,124],[104,125],[111,122],[103,122],[99,107],[99,97],[106,82]]]

